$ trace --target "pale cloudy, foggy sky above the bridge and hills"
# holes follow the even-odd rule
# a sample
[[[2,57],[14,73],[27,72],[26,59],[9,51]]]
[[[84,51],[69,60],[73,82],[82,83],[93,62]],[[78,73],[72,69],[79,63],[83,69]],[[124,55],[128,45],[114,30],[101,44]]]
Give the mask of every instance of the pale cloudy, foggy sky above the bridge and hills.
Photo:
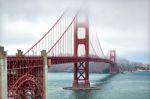
[[[29,49],[66,9],[85,8],[105,54],[150,63],[150,0],[0,0],[0,46]]]

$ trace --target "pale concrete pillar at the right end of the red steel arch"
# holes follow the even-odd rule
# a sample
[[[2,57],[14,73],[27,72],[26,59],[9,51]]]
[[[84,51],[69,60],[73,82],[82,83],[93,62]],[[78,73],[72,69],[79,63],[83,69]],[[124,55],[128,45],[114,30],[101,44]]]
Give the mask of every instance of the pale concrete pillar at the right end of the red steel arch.
[[[47,61],[47,53],[46,50],[41,51],[41,55],[43,57],[43,86],[44,86],[44,99],[48,99],[48,61]]]

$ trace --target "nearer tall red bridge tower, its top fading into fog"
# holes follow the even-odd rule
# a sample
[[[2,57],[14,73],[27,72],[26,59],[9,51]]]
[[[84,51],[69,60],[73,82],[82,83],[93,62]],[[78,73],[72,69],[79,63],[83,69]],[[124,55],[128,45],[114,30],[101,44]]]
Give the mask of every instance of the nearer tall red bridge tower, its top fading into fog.
[[[85,38],[79,38],[79,28],[83,28],[85,30]],[[85,22],[79,22],[76,18],[74,22],[74,57],[78,58],[78,47],[82,44],[85,47],[85,58],[89,58],[89,26],[88,20]],[[81,82],[83,80],[83,82]],[[89,60],[86,59],[82,62],[74,63],[74,80],[73,87],[80,87],[79,82],[83,83],[81,87],[90,87],[89,82]]]

